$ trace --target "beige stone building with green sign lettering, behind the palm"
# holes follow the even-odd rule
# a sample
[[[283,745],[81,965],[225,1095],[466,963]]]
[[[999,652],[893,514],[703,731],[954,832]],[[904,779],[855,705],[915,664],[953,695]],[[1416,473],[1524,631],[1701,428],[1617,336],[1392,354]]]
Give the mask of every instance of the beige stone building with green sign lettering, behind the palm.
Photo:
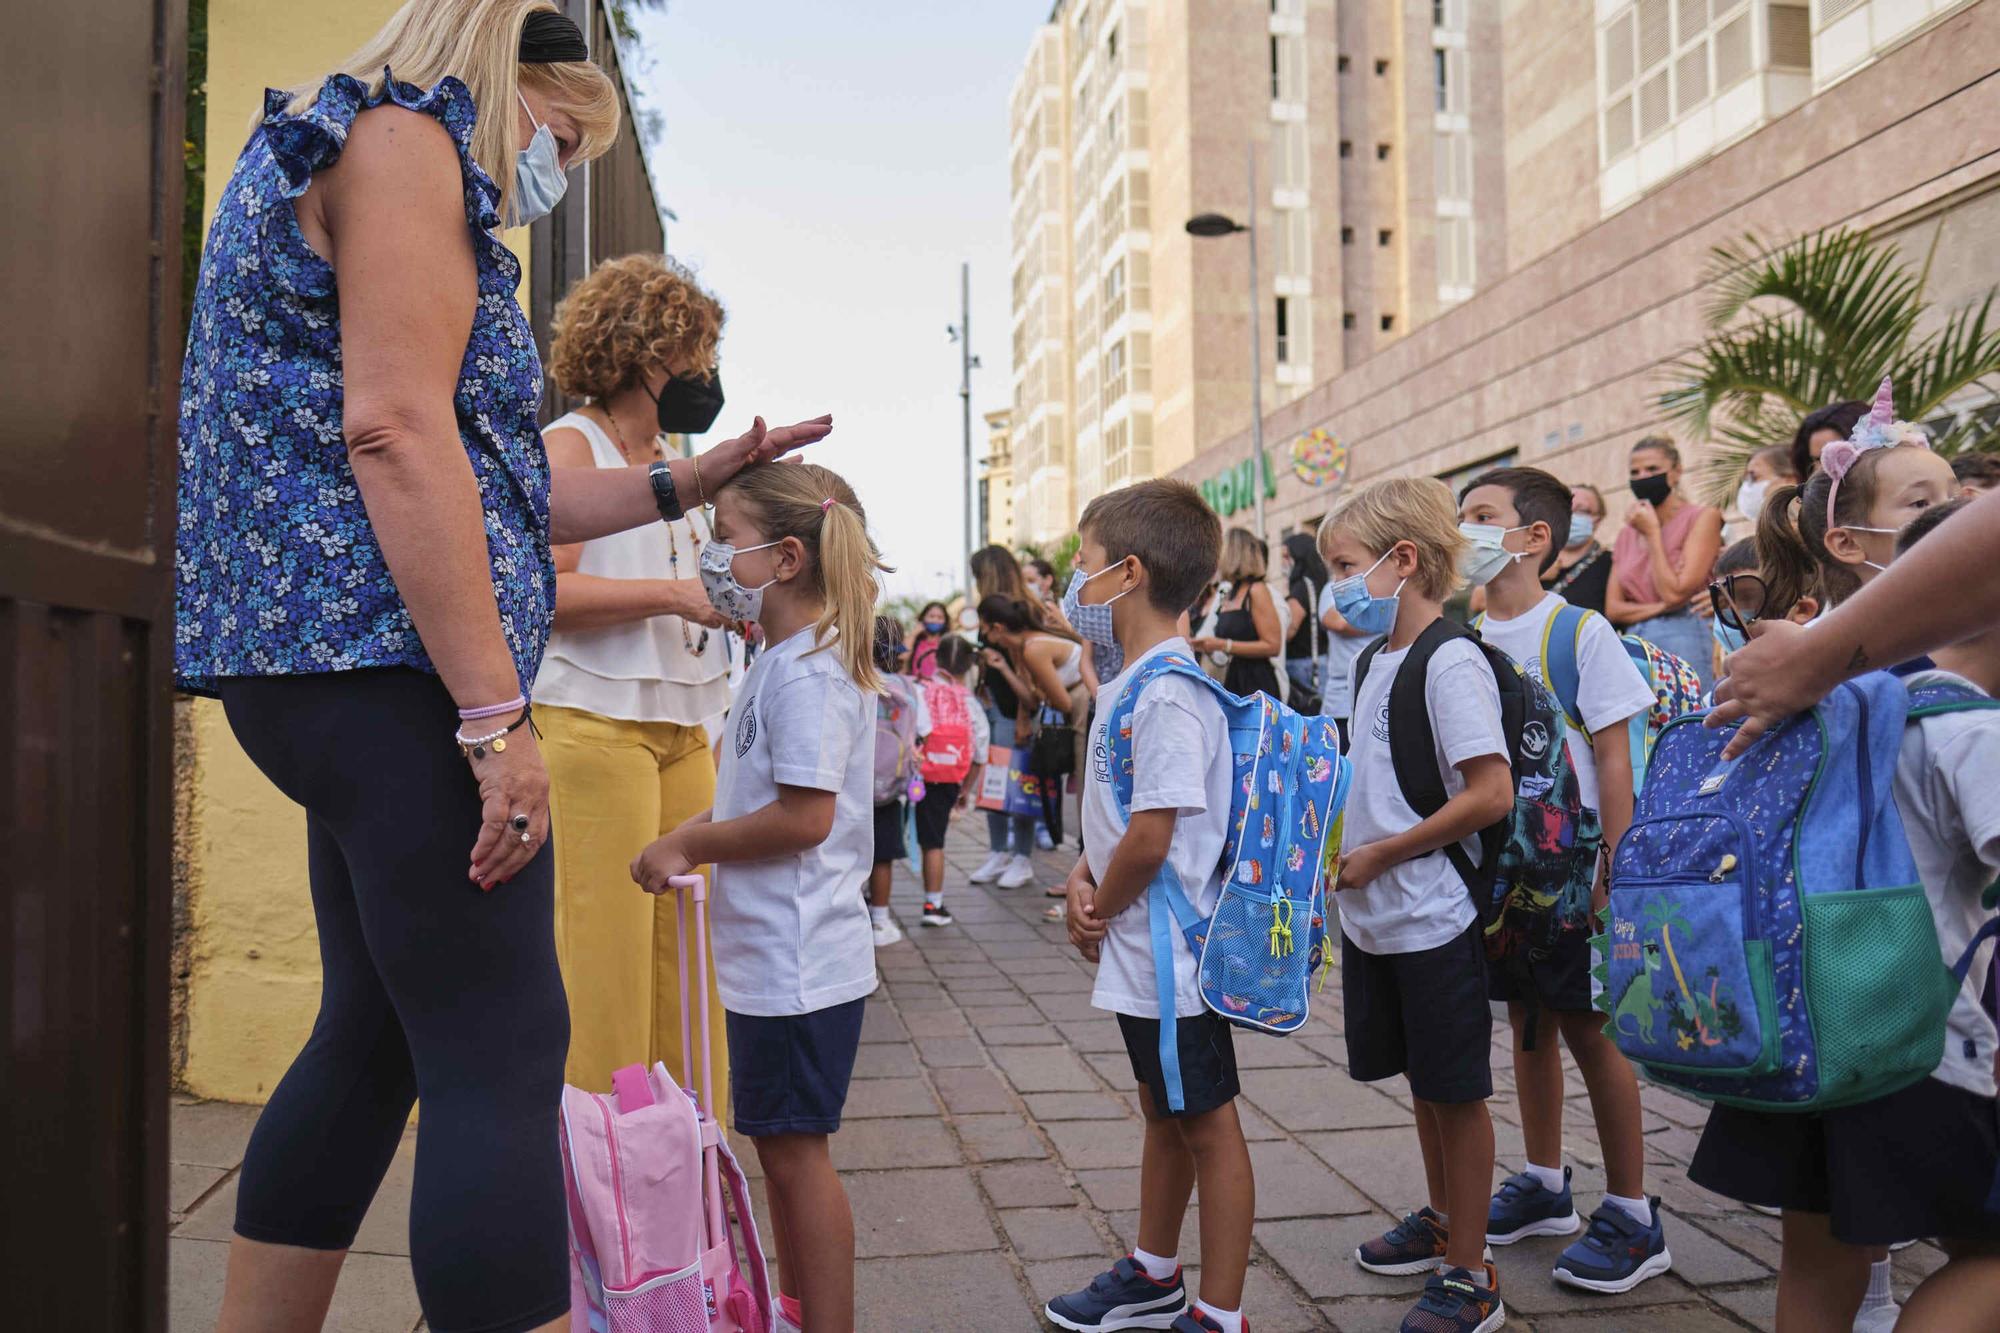
[[[1616,520],[1624,454],[1660,424],[1662,370],[1704,332],[1708,250],[1746,232],[1868,228],[1914,264],[1928,256],[1938,318],[2000,282],[2000,0],[1814,0],[1802,100],[1602,212],[1602,178],[1626,158],[1596,142],[1618,98],[1606,98],[1616,90],[1602,68],[1588,76],[1592,42],[1624,32],[1624,16],[1646,2],[1506,0],[1508,272],[1266,414],[1272,534],[1314,526],[1346,488],[1378,476],[1450,480],[1516,460],[1604,486]],[[1670,36],[1698,8],[1676,0]],[[1716,0],[1704,12],[1710,72],[1714,18],[1728,26],[1758,8],[1768,24],[1782,6]],[[1866,36],[1862,56],[1850,56],[1860,50],[1850,24]],[[1676,124],[1658,134],[1672,138]],[[1682,446],[1698,466],[1702,442]],[[1206,482],[1220,508],[1244,510],[1248,450],[1248,430],[1236,430],[1180,474]]]

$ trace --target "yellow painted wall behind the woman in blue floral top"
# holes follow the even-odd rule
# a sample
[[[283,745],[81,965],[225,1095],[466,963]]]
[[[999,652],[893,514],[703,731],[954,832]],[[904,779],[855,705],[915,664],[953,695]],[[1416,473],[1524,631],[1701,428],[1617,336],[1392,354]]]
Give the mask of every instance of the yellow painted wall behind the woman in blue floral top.
[[[210,0],[204,216],[214,216],[264,88],[326,72],[396,8],[398,0]],[[522,258],[526,300],[528,232],[506,240]],[[182,1085],[196,1097],[264,1101],[320,1005],[306,819],[236,745],[222,705],[192,701],[180,737],[176,849],[188,895]]]

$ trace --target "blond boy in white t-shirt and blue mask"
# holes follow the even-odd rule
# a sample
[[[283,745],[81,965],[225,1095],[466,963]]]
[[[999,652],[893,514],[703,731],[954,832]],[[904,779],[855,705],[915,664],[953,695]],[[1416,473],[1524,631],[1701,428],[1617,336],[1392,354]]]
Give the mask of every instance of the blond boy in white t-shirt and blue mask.
[[[1514,807],[1500,687],[1476,642],[1444,622],[1466,538],[1444,482],[1392,476],[1320,524],[1334,608],[1384,634],[1354,687],[1354,785],[1342,819],[1334,905],[1348,1075],[1408,1075],[1424,1153],[1426,1207],[1354,1251],[1370,1273],[1428,1275],[1404,1329],[1496,1329],[1500,1275],[1486,1259],[1494,1179],[1492,1009],[1486,945],[1470,885],[1446,855],[1474,861],[1478,833]],[[1390,691],[1424,673],[1446,801],[1420,819],[1402,795],[1390,747]],[[1452,1217],[1464,1219],[1452,1225]]]

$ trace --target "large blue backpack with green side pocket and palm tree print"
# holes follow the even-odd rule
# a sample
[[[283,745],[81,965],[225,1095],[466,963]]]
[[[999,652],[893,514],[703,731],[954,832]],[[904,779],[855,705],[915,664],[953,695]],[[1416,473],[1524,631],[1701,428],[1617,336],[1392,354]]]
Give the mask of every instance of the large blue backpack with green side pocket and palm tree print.
[[[1656,1083],[1758,1111],[1824,1111],[1916,1083],[1972,963],[1938,931],[1896,811],[1910,719],[2000,709],[1888,673],[1722,761],[1734,729],[1672,723],[1612,863],[1596,947],[1606,1033]]]

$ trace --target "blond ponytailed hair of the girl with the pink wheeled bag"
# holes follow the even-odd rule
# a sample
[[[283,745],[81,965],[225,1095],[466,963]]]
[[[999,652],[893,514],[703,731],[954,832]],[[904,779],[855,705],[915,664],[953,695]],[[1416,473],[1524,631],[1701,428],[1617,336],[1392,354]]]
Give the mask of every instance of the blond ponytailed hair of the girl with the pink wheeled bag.
[[[838,472],[816,462],[772,462],[744,468],[730,490],[754,514],[766,540],[796,536],[810,556],[812,588],[826,610],[812,628],[814,652],[840,650],[840,664],[864,691],[882,693],[874,664],[874,608],[882,594],[878,572],[888,572],[868,536],[868,514]],[[832,504],[828,504],[832,500]]]

